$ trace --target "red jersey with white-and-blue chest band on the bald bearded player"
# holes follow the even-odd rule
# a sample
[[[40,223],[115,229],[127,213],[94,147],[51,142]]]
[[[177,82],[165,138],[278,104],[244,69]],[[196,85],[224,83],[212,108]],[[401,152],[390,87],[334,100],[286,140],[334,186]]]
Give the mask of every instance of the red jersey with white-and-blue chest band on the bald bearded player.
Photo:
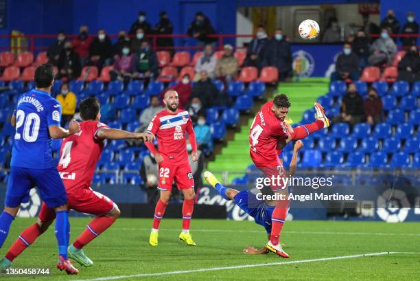
[[[169,113],[164,109],[154,115],[147,132],[156,136],[158,151],[164,159],[188,161],[185,132],[194,134],[188,111],[178,109],[176,113]]]

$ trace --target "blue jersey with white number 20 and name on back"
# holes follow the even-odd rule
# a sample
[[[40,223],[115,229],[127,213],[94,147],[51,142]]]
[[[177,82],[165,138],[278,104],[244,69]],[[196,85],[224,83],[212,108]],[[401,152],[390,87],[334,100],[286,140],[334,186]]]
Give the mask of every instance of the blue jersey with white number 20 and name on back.
[[[10,166],[21,168],[55,168],[49,126],[60,126],[61,105],[49,93],[34,89],[23,93],[16,106]]]

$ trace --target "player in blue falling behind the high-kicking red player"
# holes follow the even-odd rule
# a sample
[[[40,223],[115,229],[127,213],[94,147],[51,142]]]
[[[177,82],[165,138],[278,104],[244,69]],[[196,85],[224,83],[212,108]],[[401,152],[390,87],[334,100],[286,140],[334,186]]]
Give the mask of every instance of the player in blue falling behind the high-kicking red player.
[[[293,176],[296,172],[296,161],[297,154],[299,150],[303,148],[303,142],[300,140],[295,142],[293,147],[293,156],[292,161],[290,161],[289,176]],[[225,188],[222,184],[216,179],[216,177],[209,171],[204,173],[204,177],[208,183],[210,183],[213,188],[218,190],[222,198],[226,200],[232,200],[236,205],[238,205],[244,212],[249,214],[254,218],[255,223],[262,225],[270,238],[271,234],[271,219],[272,212],[275,208],[274,205],[269,205],[266,201],[258,199],[256,194],[253,194],[249,190],[235,190],[233,188]],[[266,254],[266,248],[255,249],[253,247],[247,247],[244,249],[246,254]]]

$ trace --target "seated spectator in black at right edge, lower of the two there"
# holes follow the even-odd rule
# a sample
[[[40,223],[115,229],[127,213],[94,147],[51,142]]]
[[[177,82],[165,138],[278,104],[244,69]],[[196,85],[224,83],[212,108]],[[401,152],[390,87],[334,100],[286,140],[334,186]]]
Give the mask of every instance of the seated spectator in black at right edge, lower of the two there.
[[[410,49],[398,63],[398,80],[413,83],[420,81],[420,57],[415,45]]]

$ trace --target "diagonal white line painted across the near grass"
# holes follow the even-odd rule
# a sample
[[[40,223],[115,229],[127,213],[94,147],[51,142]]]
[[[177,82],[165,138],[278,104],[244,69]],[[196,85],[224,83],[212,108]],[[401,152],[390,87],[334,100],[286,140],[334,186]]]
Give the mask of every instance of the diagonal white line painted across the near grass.
[[[351,256],[335,256],[329,258],[314,258],[311,260],[290,260],[287,262],[270,262],[270,263],[258,263],[253,265],[233,265],[231,267],[210,267],[204,269],[189,269],[189,270],[178,270],[178,271],[165,271],[165,272],[158,272],[158,273],[139,273],[139,274],[132,274],[132,275],[122,275],[122,276],[108,276],[108,277],[100,277],[100,278],[93,278],[93,279],[80,279],[80,280],[73,280],[73,281],[106,281],[106,280],[119,280],[124,278],[142,278],[142,277],[151,277],[151,276],[165,276],[165,275],[172,275],[172,274],[185,274],[185,273],[196,273],[196,272],[207,272],[207,271],[220,271],[226,269],[245,269],[245,268],[252,268],[252,267],[268,267],[272,265],[292,265],[296,263],[305,263],[305,262],[323,262],[327,260],[343,260],[346,258],[362,258],[365,256],[384,256],[388,254],[399,254],[397,251],[383,251],[380,253],[369,253],[369,254],[358,254],[358,255],[351,255]],[[415,253],[412,253],[415,254]]]

